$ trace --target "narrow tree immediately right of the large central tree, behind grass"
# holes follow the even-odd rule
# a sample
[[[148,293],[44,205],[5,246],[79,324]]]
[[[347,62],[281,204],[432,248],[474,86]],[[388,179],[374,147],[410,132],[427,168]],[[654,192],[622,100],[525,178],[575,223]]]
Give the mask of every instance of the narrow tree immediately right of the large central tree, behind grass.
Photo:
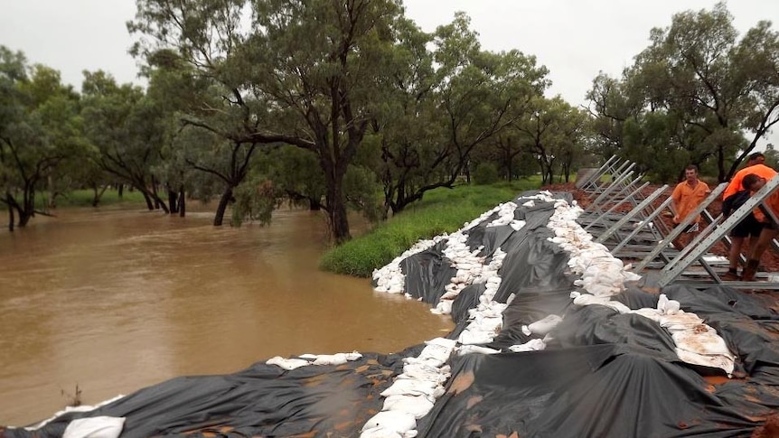
[[[373,150],[371,168],[383,187],[385,217],[449,180],[446,150],[439,152],[446,144],[436,90],[440,79],[433,53],[427,49],[433,35],[408,19],[399,21],[395,31],[391,62],[408,68],[391,70],[390,78],[377,88],[381,105],[365,141],[367,149]]]

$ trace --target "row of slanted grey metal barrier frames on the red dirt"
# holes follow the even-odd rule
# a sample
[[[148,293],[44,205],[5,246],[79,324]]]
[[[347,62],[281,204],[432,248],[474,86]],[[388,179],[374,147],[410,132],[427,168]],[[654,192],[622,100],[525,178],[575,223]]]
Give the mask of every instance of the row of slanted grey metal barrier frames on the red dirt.
[[[763,205],[767,197],[779,187],[779,178],[766,183],[763,189],[757,191],[727,219],[722,215],[713,217],[707,210],[712,202],[721,198],[727,188],[727,182],[723,182],[677,227],[669,228],[659,216],[665,211],[673,214],[671,198],[663,200],[658,208],[653,207],[669,186],[664,185],[647,193],[649,184],[643,182],[643,175],[633,178],[634,167],[634,163],[613,156],[585,180],[577,182],[580,190],[586,191],[591,200],[578,222],[597,242],[608,247],[614,256],[634,261],[634,271],[656,277],[661,287],[683,283],[694,287],[727,284],[736,288],[779,289],[779,275],[774,279],[774,275],[758,273],[761,279],[767,277],[769,280],[759,282],[723,280],[720,276],[723,274],[722,265],[727,266],[727,261],[723,262],[723,257],[709,254],[711,247],[718,242],[723,242],[729,250],[731,240],[727,233],[753,209]],[[606,175],[610,178],[604,182]],[[625,208],[632,210],[624,211]],[[704,224],[708,226],[700,230],[686,247],[681,250],[673,247],[671,242],[679,238],[699,214],[703,218],[700,227]],[[774,220],[779,223],[777,218]],[[779,250],[776,239],[773,248]],[[740,259],[742,263],[746,261],[743,254]]]

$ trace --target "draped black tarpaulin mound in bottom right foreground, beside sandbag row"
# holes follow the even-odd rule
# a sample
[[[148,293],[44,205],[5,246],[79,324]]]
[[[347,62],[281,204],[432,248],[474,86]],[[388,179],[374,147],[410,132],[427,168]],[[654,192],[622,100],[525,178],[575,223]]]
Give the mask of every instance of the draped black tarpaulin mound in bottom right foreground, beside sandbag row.
[[[453,359],[419,436],[727,437],[755,426],[689,368],[627,345]]]

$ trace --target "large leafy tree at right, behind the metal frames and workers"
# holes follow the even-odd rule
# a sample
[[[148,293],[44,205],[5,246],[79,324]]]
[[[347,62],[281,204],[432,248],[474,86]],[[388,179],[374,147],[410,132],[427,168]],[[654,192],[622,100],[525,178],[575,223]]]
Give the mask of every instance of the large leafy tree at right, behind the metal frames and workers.
[[[714,163],[727,180],[779,122],[779,33],[760,22],[738,37],[724,3],[685,11],[652,29],[622,79],[598,75],[587,96],[601,154],[642,170]]]

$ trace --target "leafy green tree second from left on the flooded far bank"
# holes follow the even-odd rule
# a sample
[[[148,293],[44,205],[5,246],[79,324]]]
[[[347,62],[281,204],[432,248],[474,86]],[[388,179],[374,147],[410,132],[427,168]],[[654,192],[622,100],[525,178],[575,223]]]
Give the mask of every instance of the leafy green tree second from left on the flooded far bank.
[[[117,85],[109,74],[84,71],[81,90],[84,132],[98,153],[93,160],[144,195],[146,207],[169,210],[157,191],[152,168],[160,163],[164,144],[163,113],[145,90]]]

